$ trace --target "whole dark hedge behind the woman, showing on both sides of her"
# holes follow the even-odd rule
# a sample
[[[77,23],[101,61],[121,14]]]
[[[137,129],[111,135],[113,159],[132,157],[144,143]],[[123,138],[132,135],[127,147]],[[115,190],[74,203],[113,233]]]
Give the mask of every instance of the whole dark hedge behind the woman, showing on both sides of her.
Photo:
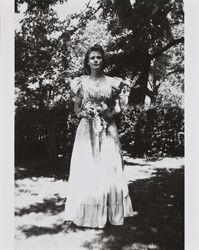
[[[60,103],[51,110],[16,112],[16,159],[46,156],[70,158],[78,119]],[[183,156],[184,111],[180,107],[128,107],[119,117],[122,149],[133,157]]]

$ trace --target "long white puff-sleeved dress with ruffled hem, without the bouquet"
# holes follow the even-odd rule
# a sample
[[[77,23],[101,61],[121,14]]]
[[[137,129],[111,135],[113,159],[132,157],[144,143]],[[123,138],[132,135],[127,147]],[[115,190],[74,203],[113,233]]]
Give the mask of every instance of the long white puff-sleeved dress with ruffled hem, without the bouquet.
[[[88,77],[81,78],[76,92],[82,107],[91,102],[111,106],[121,79],[105,76],[96,87]],[[110,107],[111,108],[111,107]],[[77,128],[70,165],[65,220],[77,226],[104,228],[107,220],[123,225],[124,217],[133,216],[117,127],[112,120],[102,131],[94,129],[95,118],[82,118]]]

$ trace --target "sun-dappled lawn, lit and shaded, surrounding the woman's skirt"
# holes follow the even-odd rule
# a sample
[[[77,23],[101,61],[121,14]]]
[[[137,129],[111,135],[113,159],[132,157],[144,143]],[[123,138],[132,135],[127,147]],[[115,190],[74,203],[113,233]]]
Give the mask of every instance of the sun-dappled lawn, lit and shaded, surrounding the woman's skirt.
[[[126,218],[123,226],[107,224],[103,230],[64,223],[68,187],[64,178],[49,177],[47,173],[46,177],[26,175],[16,179],[16,250],[182,250],[183,161],[125,157],[124,174],[138,213]]]

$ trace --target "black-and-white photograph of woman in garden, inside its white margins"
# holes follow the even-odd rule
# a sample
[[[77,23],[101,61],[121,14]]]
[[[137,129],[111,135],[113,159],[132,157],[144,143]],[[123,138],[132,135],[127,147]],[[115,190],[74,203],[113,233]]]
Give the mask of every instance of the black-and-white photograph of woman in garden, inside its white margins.
[[[185,249],[184,1],[13,12],[15,250]]]

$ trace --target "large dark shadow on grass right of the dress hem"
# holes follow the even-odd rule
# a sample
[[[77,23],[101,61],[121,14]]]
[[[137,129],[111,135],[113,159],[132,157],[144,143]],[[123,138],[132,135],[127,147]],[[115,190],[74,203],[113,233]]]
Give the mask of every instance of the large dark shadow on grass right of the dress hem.
[[[84,247],[95,249],[184,249],[184,170],[158,169],[156,176],[129,185],[134,210],[124,226],[109,225]]]

